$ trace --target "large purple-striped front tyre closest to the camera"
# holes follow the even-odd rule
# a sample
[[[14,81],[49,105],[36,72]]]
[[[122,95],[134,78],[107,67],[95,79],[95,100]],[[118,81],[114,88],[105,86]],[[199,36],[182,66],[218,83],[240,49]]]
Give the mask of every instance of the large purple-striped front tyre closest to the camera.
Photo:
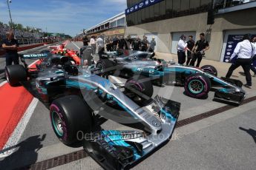
[[[50,121],[56,136],[66,145],[82,140],[93,126],[90,107],[76,95],[54,100],[50,105]]]

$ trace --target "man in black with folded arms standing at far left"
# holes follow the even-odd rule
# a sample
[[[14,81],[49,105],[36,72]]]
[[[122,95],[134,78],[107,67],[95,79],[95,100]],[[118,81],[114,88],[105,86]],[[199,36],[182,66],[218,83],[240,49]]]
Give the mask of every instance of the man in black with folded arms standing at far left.
[[[18,47],[19,43],[14,38],[13,32],[7,32],[7,39],[4,40],[2,47],[6,51],[5,55],[5,61],[6,66],[12,65],[12,64],[19,64],[19,55],[18,55]]]

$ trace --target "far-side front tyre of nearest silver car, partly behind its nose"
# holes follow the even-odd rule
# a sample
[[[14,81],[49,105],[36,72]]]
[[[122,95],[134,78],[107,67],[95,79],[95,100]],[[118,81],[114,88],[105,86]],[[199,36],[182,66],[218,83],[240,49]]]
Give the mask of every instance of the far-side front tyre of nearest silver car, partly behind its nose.
[[[142,94],[147,95],[149,98],[152,97],[154,89],[150,80],[143,75],[134,76],[125,83],[125,90],[129,91],[128,87],[137,89]]]

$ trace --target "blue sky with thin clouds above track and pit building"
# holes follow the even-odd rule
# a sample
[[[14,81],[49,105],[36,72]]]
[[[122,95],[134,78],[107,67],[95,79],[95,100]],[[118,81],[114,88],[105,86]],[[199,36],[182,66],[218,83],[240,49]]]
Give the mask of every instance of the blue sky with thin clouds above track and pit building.
[[[76,35],[107,18],[122,13],[126,0],[12,0],[14,23],[38,27],[50,33]],[[0,21],[10,20],[6,0],[0,0]]]

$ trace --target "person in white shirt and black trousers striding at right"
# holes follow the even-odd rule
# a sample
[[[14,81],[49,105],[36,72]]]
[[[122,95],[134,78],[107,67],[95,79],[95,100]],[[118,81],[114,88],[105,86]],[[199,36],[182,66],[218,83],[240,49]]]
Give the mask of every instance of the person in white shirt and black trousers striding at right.
[[[243,36],[243,41],[237,44],[234,52],[229,61],[237,56],[233,64],[229,67],[229,71],[226,74],[226,78],[230,78],[234,69],[243,67],[244,74],[246,75],[246,84],[244,86],[252,88],[252,75],[250,73],[250,67],[252,64],[252,56],[256,54],[255,46],[250,42],[250,35]]]

